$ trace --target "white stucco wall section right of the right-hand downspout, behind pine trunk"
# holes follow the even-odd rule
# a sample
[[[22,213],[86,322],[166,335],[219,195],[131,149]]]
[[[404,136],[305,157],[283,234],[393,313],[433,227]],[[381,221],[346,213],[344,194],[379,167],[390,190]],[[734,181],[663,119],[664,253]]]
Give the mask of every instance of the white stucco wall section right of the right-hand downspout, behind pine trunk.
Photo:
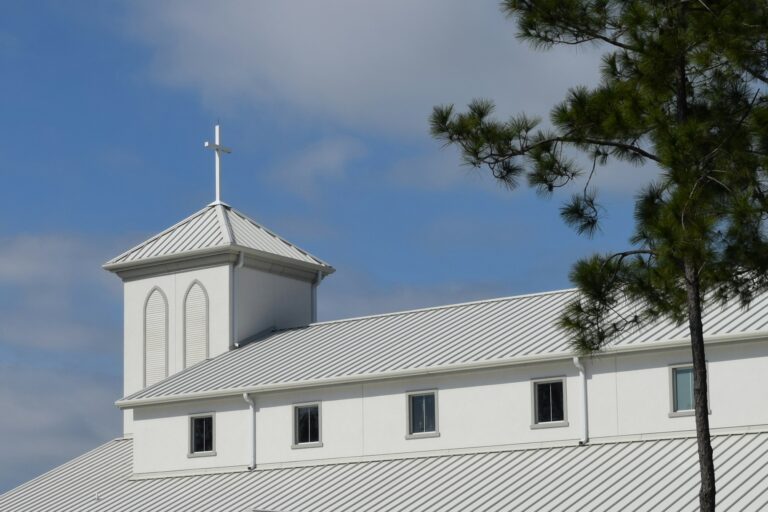
[[[707,347],[710,427],[768,425],[768,342]],[[690,349],[599,356],[589,365],[593,439],[692,430],[692,416],[669,417],[670,366]]]

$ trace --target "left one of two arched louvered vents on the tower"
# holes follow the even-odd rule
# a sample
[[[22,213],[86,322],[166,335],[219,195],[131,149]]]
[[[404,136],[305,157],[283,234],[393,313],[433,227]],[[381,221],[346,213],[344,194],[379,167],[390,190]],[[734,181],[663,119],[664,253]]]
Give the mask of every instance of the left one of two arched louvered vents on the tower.
[[[158,288],[144,308],[144,385],[168,376],[168,301]]]

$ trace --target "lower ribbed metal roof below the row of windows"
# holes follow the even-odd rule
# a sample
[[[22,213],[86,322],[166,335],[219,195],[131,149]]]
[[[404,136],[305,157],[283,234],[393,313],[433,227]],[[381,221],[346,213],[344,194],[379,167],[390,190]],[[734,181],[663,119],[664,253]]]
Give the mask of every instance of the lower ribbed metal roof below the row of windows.
[[[768,433],[712,438],[718,510],[768,508]],[[130,480],[109,442],[0,496],[0,510],[698,510],[695,437]]]

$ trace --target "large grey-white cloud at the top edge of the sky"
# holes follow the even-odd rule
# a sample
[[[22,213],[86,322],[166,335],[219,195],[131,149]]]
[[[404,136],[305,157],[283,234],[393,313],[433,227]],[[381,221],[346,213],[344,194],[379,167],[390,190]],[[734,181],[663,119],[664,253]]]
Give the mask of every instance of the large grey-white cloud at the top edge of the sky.
[[[424,136],[433,105],[474,97],[546,116],[598,69],[593,50],[517,41],[496,0],[131,5],[154,76],[213,110],[277,107],[396,136]]]

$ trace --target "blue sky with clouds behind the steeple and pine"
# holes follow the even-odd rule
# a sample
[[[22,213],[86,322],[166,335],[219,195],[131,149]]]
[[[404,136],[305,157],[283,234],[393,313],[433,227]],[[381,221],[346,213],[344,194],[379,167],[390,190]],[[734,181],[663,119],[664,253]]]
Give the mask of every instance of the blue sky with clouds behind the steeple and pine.
[[[625,247],[648,168],[600,171],[592,240],[462,167],[432,106],[546,116],[599,49],[531,50],[495,0],[5,2],[0,491],[120,434],[122,297],[100,265],[213,199],[337,268],[321,319],[568,287]]]

